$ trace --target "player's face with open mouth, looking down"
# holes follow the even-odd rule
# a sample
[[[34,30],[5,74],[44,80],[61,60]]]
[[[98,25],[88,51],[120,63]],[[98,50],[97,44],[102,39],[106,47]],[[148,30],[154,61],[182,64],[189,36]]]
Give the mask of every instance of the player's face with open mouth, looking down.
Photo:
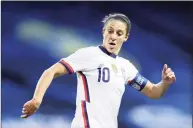
[[[113,54],[118,54],[123,42],[127,41],[127,24],[115,19],[107,21],[103,28],[103,47]]]

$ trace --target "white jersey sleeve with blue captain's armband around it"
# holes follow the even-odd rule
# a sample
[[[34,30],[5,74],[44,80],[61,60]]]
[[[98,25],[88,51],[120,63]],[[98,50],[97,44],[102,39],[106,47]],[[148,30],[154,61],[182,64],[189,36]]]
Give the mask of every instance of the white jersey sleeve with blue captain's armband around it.
[[[132,63],[128,62],[125,67],[126,84],[141,91],[146,86],[148,80],[139,73]]]

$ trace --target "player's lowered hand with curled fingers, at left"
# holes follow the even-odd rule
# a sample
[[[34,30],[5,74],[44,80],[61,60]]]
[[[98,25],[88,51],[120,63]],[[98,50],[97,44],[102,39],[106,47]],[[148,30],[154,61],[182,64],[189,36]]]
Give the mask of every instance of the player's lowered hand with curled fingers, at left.
[[[34,114],[38,110],[40,104],[41,102],[37,101],[36,99],[32,99],[26,102],[22,109],[23,115],[21,115],[21,118],[27,118]]]

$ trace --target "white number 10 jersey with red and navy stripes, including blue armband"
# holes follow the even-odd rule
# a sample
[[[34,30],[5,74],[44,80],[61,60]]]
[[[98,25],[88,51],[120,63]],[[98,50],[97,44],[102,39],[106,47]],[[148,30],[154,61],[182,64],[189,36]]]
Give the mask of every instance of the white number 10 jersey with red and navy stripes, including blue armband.
[[[117,128],[125,85],[130,82],[141,90],[146,84],[144,79],[136,77],[138,70],[128,60],[109,54],[102,46],[79,49],[60,63],[69,73],[77,74],[72,128]]]

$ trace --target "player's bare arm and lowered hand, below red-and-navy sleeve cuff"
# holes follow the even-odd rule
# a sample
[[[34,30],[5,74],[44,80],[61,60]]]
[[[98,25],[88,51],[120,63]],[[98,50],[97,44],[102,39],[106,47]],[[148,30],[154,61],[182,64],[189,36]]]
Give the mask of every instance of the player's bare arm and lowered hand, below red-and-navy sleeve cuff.
[[[52,80],[60,75],[68,73],[69,71],[61,63],[56,63],[45,70],[37,83],[33,98],[24,104],[22,109],[23,115],[21,117],[27,118],[35,113],[39,108],[44,94],[50,86]]]

